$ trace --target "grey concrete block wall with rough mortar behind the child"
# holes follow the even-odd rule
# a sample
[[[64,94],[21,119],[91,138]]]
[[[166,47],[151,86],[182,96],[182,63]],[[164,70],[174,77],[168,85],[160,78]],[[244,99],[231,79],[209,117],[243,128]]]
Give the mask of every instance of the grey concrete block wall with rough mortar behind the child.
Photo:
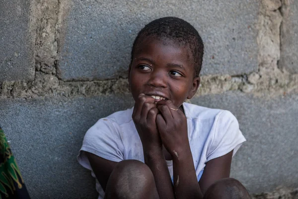
[[[2,0],[0,125],[31,197],[96,197],[94,179],[76,162],[84,133],[133,106],[133,40],[146,23],[169,15],[193,24],[206,46],[190,102],[230,110],[247,138],[232,177],[251,194],[282,186],[293,195],[297,8],[296,0]]]

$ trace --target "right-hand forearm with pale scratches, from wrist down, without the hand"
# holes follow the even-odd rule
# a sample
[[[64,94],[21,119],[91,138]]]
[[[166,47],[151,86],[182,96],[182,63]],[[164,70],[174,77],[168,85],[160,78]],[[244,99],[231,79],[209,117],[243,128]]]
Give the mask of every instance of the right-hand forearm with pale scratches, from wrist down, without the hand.
[[[175,151],[172,158],[175,198],[203,199],[190,148]]]

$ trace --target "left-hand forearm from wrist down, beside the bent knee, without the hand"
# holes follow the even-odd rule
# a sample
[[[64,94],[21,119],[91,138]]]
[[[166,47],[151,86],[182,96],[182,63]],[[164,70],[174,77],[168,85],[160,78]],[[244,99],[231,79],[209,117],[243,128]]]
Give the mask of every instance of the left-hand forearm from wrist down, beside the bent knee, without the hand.
[[[144,150],[145,164],[153,173],[156,189],[160,199],[174,199],[171,177],[162,150],[147,152]]]

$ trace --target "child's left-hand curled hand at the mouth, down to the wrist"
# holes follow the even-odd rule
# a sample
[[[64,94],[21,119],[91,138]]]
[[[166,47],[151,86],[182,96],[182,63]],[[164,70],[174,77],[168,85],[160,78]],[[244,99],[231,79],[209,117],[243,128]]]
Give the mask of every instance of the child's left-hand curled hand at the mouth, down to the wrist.
[[[158,109],[154,104],[154,98],[140,94],[135,103],[133,120],[143,144],[143,150],[161,150],[162,142],[156,126]]]

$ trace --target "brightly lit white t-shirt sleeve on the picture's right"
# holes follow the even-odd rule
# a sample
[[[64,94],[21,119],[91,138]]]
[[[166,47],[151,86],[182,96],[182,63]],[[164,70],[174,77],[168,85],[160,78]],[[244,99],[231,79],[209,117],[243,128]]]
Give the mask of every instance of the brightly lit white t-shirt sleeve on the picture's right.
[[[233,156],[246,141],[242,135],[236,117],[227,110],[220,112],[215,119],[215,131],[207,162],[221,157],[233,150]]]

